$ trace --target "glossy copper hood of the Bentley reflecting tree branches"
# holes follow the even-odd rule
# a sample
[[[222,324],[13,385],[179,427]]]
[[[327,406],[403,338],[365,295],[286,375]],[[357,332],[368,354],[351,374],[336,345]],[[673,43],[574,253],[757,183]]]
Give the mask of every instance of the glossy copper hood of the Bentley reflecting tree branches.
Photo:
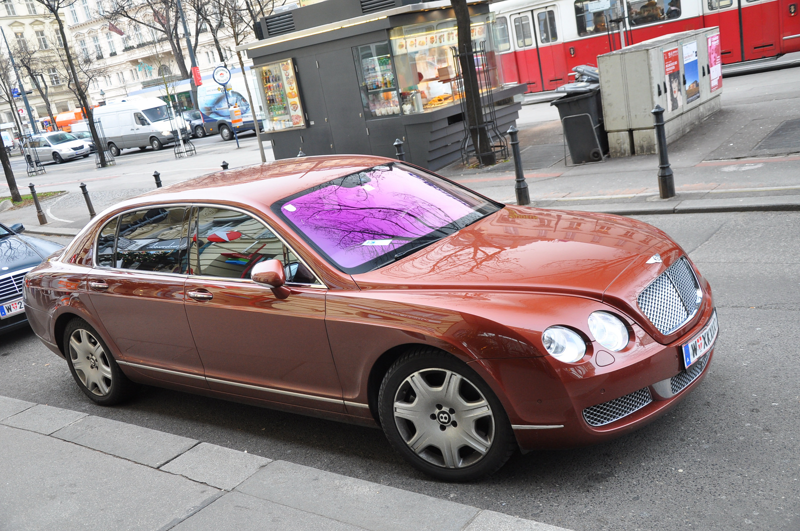
[[[661,230],[629,218],[506,206],[353,278],[362,289],[514,289],[602,300],[637,257],[666,242]]]

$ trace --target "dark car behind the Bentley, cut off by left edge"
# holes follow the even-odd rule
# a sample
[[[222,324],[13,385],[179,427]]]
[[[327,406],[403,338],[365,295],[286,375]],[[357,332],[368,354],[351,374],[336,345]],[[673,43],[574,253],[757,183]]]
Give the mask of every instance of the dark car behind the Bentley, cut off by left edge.
[[[40,238],[22,236],[25,227],[0,224],[0,333],[24,326],[27,322],[22,301],[25,273],[62,246]]]

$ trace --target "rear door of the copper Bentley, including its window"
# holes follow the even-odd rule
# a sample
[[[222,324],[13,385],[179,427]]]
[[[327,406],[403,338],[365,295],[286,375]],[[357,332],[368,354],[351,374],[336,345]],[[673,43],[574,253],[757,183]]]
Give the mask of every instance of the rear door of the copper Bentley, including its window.
[[[183,308],[188,221],[186,206],[154,206],[106,222],[87,289],[122,365],[207,388]]]

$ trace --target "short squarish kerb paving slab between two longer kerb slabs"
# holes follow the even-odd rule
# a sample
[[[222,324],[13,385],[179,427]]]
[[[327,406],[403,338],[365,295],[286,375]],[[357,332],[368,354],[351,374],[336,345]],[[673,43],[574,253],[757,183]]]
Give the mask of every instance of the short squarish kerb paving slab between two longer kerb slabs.
[[[202,442],[161,467],[218,489],[233,490],[271,459]]]

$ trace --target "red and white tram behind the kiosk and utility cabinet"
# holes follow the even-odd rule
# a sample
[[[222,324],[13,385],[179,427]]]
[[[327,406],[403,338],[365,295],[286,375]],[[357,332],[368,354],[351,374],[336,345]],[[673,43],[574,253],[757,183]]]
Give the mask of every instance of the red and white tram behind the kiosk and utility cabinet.
[[[719,26],[722,62],[800,51],[800,0],[503,0],[491,6],[503,81],[528,92],[570,82],[574,66],[678,31]]]

